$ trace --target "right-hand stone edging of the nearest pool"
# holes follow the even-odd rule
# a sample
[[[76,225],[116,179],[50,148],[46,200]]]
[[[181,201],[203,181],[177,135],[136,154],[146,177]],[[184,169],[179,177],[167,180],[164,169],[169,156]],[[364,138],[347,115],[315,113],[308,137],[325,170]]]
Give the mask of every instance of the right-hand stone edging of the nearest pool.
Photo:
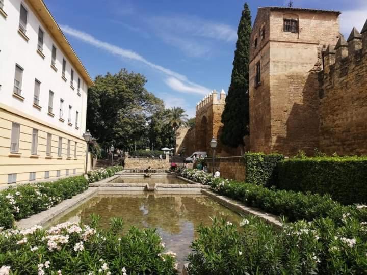
[[[246,206],[228,197],[217,195],[216,193],[212,191],[201,190],[201,193],[208,196],[209,198],[212,198],[216,202],[224,205],[225,207],[229,208],[230,210],[234,212],[237,212],[239,214],[246,214],[246,215],[251,214],[254,216],[258,216],[261,219],[264,219],[265,222],[274,226],[277,229],[281,229],[283,227],[283,224],[280,222],[279,217],[276,215],[269,214],[267,212],[264,212],[254,207]]]

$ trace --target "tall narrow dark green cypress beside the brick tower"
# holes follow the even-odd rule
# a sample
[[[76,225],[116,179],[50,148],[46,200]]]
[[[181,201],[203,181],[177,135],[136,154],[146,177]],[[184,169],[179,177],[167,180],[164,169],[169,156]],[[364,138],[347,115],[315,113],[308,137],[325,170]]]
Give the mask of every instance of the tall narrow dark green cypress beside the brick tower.
[[[222,114],[223,144],[237,147],[243,144],[243,137],[249,134],[249,50],[251,35],[251,14],[245,3],[237,30],[231,83],[228,88],[226,105]]]

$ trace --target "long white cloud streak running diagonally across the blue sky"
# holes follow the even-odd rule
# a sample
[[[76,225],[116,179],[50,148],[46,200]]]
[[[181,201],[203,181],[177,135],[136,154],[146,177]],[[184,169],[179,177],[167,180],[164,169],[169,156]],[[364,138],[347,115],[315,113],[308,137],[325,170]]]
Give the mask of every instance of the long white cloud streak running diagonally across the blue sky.
[[[191,92],[191,91],[194,91],[195,89],[198,89],[201,92],[204,91],[204,90],[209,91],[209,89],[207,89],[203,86],[200,86],[200,85],[198,85],[194,82],[189,81],[188,78],[185,75],[179,74],[177,72],[174,72],[174,71],[172,71],[170,69],[167,69],[165,67],[162,67],[160,65],[151,63],[150,61],[146,60],[144,57],[140,56],[140,54],[136,53],[135,51],[128,50],[128,49],[123,49],[119,46],[110,44],[108,42],[100,41],[100,40],[94,38],[92,35],[90,35],[88,33],[70,28],[67,25],[60,25],[60,26],[61,26],[61,29],[64,33],[66,33],[66,34],[68,34],[68,35],[70,35],[70,36],[72,36],[76,39],[82,40],[82,41],[84,41],[84,42],[86,42],[90,45],[93,45],[97,48],[104,49],[104,50],[106,50],[106,51],[108,51],[112,54],[116,54],[117,56],[120,56],[122,58],[128,58],[128,59],[131,59],[131,60],[136,60],[136,61],[142,62],[143,64],[151,67],[154,70],[160,71],[160,72],[166,74],[167,76],[169,76],[171,78],[175,78],[175,79],[179,80],[179,82],[182,84],[182,86],[186,87],[186,88],[183,89],[182,87],[175,86],[175,85],[173,85],[172,87],[170,86],[172,89],[174,89],[174,87],[179,88],[176,91]]]

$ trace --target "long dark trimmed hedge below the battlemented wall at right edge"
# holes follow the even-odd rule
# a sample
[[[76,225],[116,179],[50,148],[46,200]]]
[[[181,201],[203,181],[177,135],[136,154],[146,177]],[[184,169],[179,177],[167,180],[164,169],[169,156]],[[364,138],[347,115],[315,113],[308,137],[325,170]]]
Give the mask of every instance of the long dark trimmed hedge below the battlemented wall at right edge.
[[[277,170],[279,189],[330,194],[342,204],[367,202],[367,157],[294,158]]]

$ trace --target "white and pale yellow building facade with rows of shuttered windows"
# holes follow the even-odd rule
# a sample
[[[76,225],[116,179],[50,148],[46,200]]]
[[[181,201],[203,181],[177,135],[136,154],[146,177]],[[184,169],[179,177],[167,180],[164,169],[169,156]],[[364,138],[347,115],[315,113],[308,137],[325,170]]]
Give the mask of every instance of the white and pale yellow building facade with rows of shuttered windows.
[[[0,184],[85,170],[93,85],[42,0],[0,0]]]

